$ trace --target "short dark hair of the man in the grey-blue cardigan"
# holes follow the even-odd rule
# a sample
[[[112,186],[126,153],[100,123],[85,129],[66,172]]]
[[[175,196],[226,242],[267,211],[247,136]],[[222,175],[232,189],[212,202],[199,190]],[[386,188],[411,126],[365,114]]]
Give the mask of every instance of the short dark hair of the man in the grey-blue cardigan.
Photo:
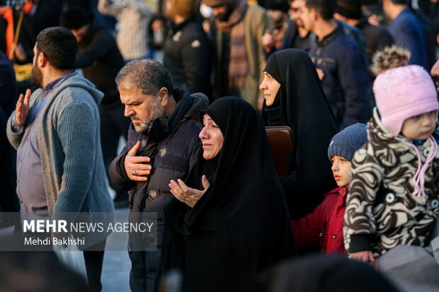
[[[76,38],[67,28],[46,28],[37,35],[37,55],[42,52],[55,69],[74,69],[77,49]]]

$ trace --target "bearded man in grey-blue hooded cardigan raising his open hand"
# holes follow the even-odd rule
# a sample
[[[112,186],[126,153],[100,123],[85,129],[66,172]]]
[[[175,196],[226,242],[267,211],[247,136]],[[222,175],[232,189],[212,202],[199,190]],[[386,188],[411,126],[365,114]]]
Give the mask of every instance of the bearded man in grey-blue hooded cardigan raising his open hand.
[[[97,104],[103,93],[74,71],[76,39],[66,28],[42,30],[33,48],[33,83],[18,99],[7,134],[17,149],[17,193],[27,214],[112,212]],[[101,291],[107,233],[86,235],[90,291]],[[91,252],[91,250],[99,250]]]

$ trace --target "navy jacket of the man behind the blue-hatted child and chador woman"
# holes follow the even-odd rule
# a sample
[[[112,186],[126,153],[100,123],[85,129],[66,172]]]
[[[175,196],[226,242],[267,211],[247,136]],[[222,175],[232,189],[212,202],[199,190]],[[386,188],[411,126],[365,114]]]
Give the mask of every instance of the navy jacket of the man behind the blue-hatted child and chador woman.
[[[355,40],[338,25],[313,44],[309,55],[324,72],[321,85],[338,125],[344,128],[366,122],[371,112],[370,90],[363,54]]]

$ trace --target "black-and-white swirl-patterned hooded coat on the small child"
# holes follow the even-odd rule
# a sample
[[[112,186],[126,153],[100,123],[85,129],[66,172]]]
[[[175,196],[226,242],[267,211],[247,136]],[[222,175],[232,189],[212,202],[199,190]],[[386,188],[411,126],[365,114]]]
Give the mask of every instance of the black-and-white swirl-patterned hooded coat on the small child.
[[[367,138],[352,161],[343,228],[346,250],[372,250],[378,257],[397,245],[423,246],[439,213],[439,151],[423,175],[426,196],[417,196],[412,194],[414,177],[431,142],[414,146],[392,136],[377,110],[367,122]]]

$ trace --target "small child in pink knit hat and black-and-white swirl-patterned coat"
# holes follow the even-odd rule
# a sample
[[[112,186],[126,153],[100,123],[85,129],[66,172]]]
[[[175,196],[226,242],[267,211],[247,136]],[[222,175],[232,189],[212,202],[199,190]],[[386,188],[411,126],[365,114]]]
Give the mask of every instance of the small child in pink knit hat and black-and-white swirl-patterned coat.
[[[363,262],[397,245],[426,245],[439,213],[431,76],[421,66],[398,66],[378,74],[373,91],[377,107],[352,160],[343,228],[350,257]]]

